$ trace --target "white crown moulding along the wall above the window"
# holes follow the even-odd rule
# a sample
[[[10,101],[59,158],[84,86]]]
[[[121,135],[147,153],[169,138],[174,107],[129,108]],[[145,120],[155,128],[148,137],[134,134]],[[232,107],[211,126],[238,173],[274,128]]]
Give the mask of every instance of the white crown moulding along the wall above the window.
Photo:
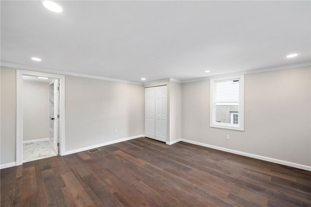
[[[281,70],[281,69],[294,69],[294,68],[300,68],[300,67],[306,67],[306,66],[311,66],[311,62],[297,63],[297,64],[284,65],[284,66],[276,66],[276,67],[263,68],[263,69],[244,70],[244,71],[240,71],[240,72],[214,75],[214,76],[209,76],[209,77],[204,77],[204,78],[188,79],[188,80],[183,80],[182,83],[205,81],[205,80],[210,80],[212,78],[222,78],[222,77],[233,76],[233,75],[246,75],[246,74],[268,72],[268,71],[275,71],[275,70]]]

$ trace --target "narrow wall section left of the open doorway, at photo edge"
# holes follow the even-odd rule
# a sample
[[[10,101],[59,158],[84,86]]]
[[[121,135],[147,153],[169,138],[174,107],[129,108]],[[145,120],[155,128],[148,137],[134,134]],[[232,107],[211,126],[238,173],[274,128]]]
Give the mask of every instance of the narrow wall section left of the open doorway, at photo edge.
[[[1,67],[1,165],[16,161],[16,70]]]

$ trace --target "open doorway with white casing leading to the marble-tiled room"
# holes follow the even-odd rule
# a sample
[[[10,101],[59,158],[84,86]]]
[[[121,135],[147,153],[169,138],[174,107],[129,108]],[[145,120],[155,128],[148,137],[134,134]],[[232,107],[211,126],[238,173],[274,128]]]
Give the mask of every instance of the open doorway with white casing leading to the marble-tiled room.
[[[65,76],[17,70],[17,165],[64,154]]]

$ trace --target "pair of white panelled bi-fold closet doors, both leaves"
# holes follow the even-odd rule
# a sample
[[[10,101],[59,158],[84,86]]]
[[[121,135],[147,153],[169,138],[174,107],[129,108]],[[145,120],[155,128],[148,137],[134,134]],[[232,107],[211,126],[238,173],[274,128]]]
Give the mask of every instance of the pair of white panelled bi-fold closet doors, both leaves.
[[[145,137],[166,142],[167,86],[145,88]]]

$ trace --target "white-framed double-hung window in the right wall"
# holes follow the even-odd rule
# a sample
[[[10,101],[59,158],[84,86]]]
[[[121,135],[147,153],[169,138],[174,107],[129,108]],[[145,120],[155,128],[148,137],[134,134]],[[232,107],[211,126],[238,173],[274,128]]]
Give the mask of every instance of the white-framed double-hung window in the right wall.
[[[244,76],[210,80],[210,127],[244,131]]]

